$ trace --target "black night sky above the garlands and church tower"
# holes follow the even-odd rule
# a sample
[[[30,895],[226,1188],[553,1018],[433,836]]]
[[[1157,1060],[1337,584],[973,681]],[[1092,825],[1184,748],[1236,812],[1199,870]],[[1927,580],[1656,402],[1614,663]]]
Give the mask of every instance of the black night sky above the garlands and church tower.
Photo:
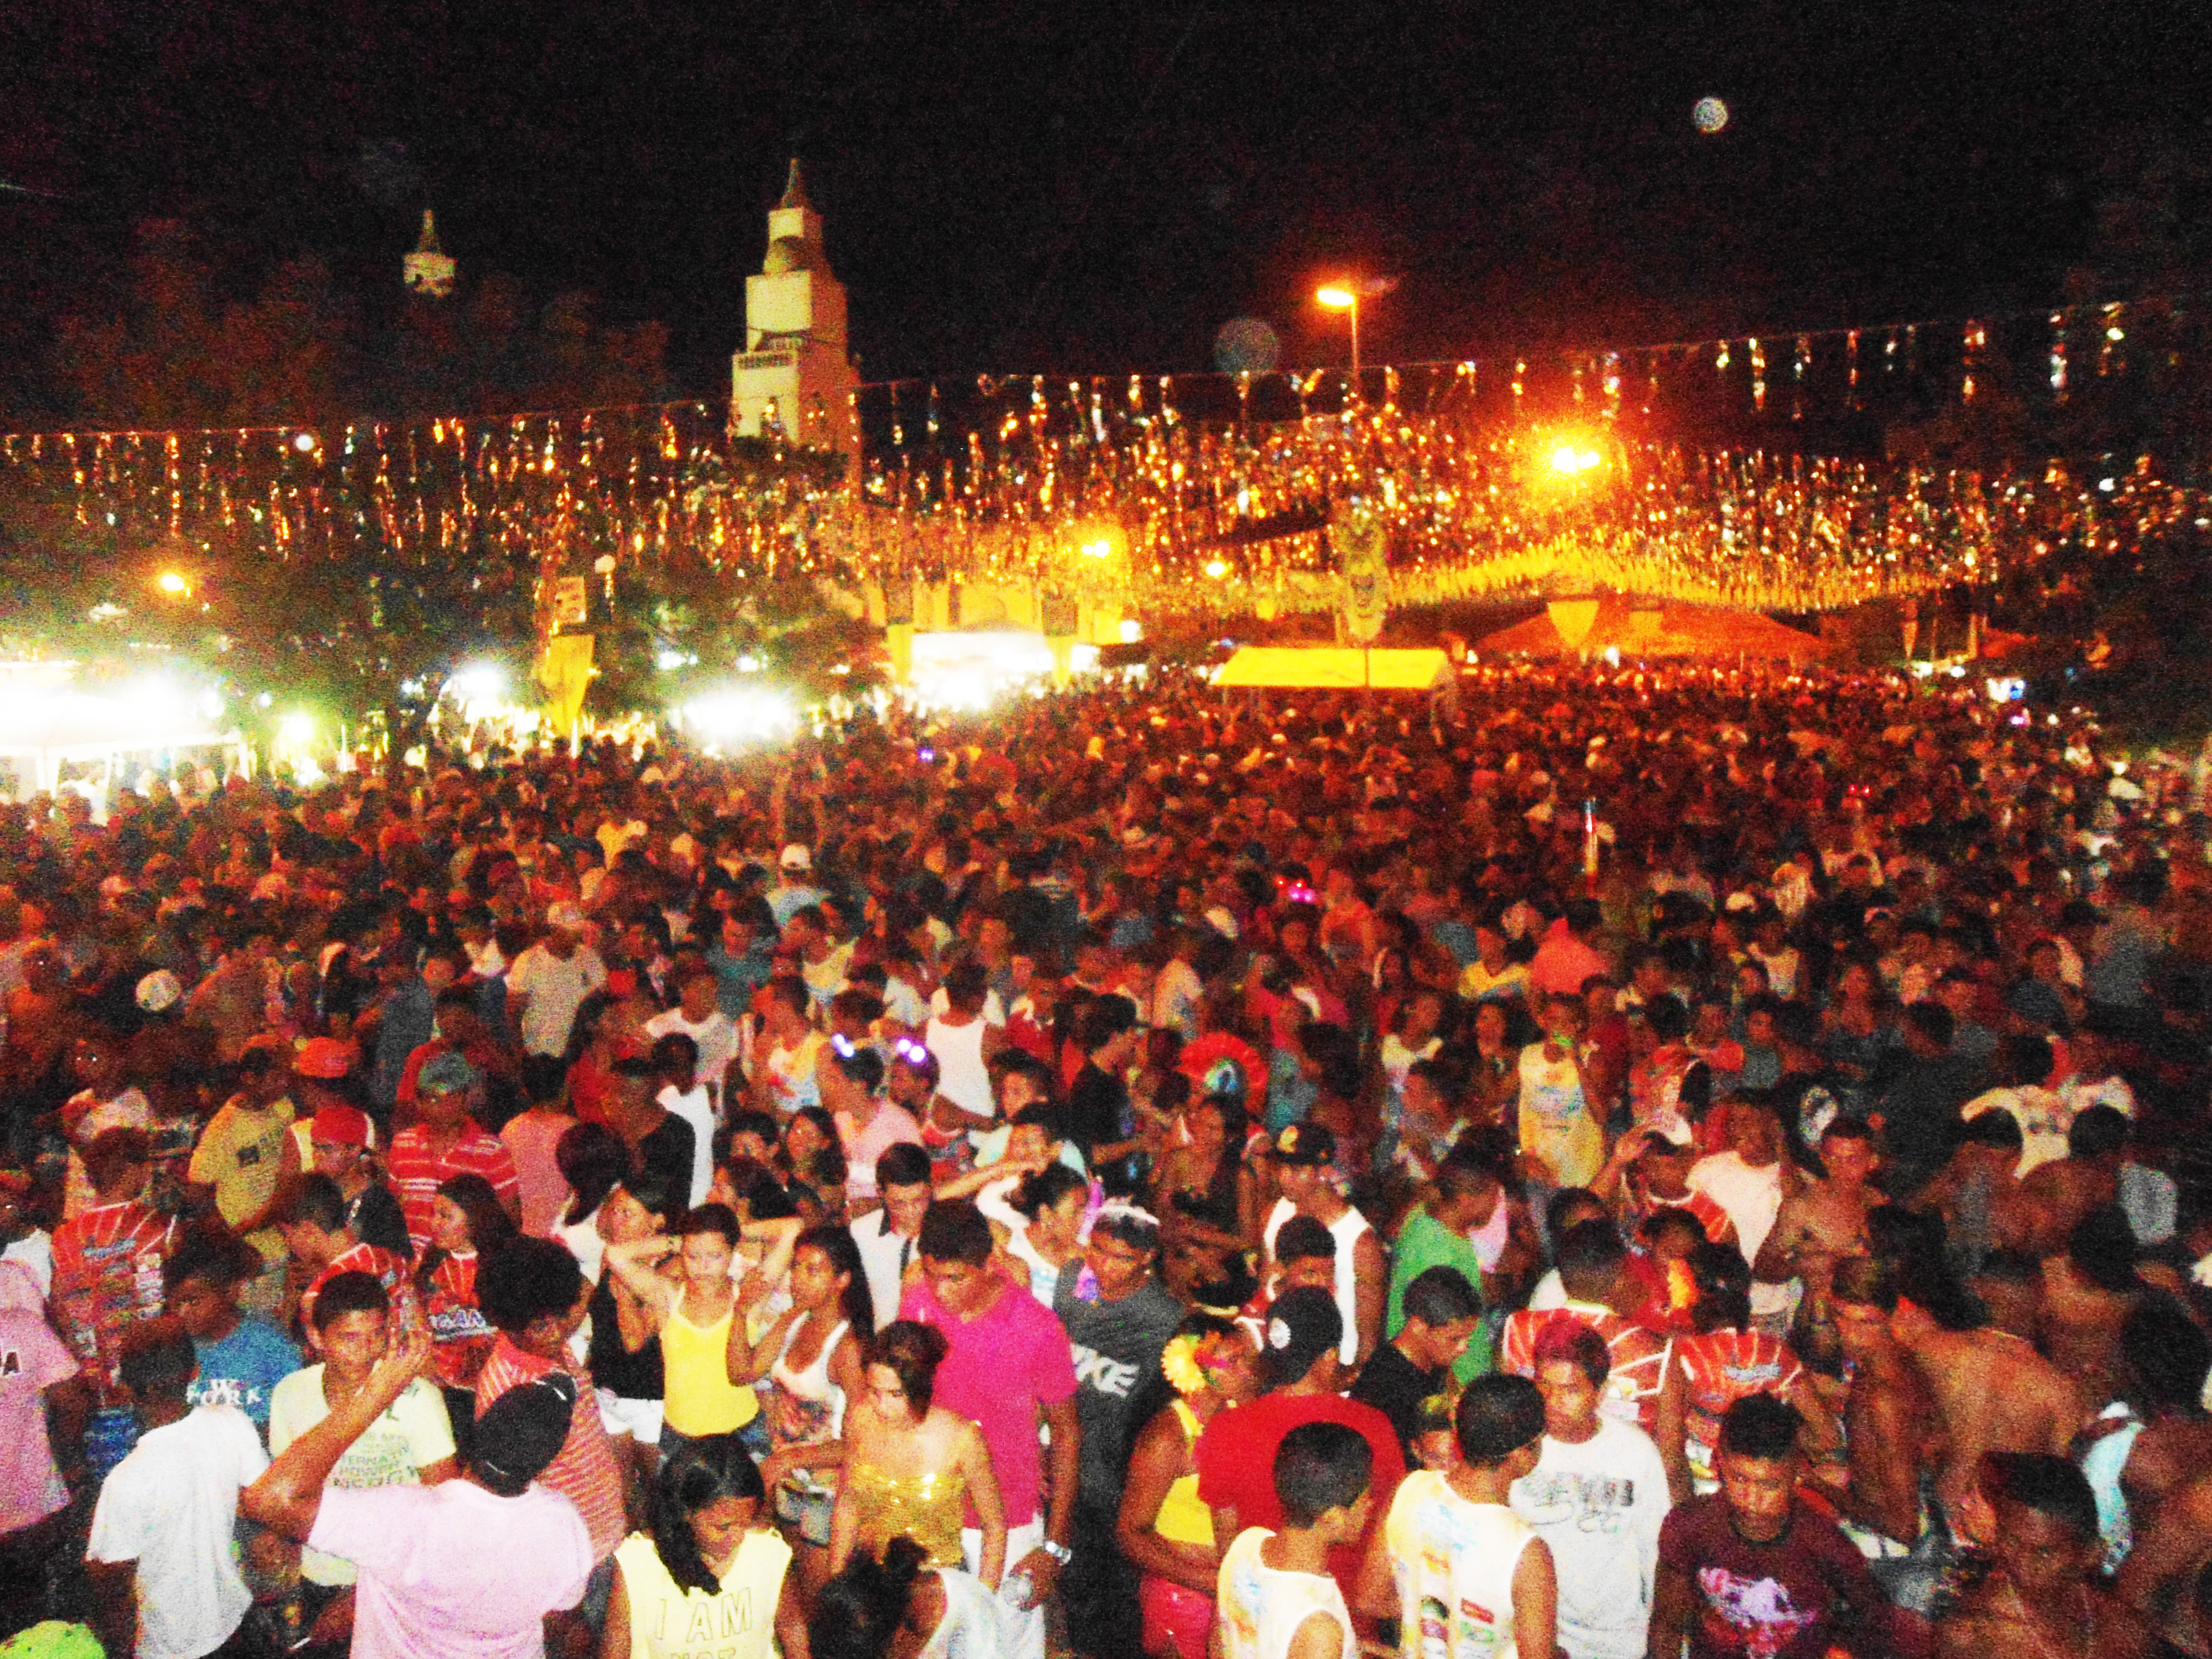
[[[312,250],[385,294],[427,201],[465,281],[661,319],[726,394],[792,153],[872,380],[1203,369],[1239,314],[1343,361],[1349,265],[1402,279],[1371,363],[2126,296],[2201,250],[2208,40],[2188,0],[9,0],[0,179],[60,199],[0,195],[0,349],[111,303],[137,219],[239,292]]]

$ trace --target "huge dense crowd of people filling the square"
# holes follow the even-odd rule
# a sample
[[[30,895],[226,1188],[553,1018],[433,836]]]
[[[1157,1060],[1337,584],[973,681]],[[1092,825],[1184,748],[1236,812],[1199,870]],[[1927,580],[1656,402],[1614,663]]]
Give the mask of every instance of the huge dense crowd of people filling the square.
[[[2212,1652],[2205,779],[1170,677],[0,805],[0,1635]]]

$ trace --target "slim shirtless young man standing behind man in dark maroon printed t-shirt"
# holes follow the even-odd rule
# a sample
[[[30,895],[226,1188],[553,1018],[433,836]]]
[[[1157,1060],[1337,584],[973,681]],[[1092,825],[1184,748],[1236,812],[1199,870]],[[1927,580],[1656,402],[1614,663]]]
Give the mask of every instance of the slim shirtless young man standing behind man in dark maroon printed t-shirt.
[[[1944,1451],[1936,1394],[1893,1329],[1898,1290],[1887,1265],[1874,1256],[1838,1261],[1827,1296],[1843,1356],[1858,1367],[1843,1413],[1851,1489],[1834,1495],[1860,1526],[1913,1544],[1920,1475]]]

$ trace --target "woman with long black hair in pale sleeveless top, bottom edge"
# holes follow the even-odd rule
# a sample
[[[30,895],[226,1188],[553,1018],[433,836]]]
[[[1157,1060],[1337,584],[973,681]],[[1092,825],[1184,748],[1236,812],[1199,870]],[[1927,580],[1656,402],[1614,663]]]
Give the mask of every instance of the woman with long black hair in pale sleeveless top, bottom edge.
[[[752,1453],[730,1433],[695,1440],[661,1464],[653,1531],[615,1551],[599,1659],[774,1659],[779,1641],[805,1652],[790,1564]]]

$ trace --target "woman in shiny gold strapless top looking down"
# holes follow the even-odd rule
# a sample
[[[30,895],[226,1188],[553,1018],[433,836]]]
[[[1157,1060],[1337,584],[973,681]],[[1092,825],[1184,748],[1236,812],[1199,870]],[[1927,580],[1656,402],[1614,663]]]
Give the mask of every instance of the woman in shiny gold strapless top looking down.
[[[931,1405],[945,1336],[900,1318],[860,1347],[867,1387],[845,1416],[845,1480],[830,1520],[830,1571],[854,1548],[878,1555],[900,1535],[929,1566],[960,1566],[960,1528],[973,1509],[982,1528],[978,1573],[989,1588],[1006,1566],[1006,1515],[982,1429]]]

